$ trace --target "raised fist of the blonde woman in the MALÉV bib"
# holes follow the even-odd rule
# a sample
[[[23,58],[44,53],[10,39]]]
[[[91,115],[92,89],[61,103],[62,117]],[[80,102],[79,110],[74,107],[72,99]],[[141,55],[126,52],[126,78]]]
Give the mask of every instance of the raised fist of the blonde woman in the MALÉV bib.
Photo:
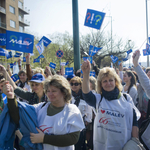
[[[90,74],[91,64],[90,64],[89,60],[84,61],[82,63],[81,69],[83,71],[83,75],[89,75]]]

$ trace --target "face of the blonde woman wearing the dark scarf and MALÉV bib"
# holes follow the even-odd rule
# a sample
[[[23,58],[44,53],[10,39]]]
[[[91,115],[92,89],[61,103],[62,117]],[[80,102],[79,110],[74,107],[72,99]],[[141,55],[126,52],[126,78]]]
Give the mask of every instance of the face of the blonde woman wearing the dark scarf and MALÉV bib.
[[[115,79],[113,77],[104,77],[101,84],[102,88],[107,92],[114,90],[116,87]]]

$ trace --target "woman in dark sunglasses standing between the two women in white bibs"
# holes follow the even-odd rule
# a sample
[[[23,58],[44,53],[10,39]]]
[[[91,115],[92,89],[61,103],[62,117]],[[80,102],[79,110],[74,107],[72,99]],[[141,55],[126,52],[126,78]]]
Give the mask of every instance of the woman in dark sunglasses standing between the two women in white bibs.
[[[71,103],[75,104],[83,117],[83,120],[85,122],[85,126],[88,125],[88,123],[92,122],[92,109],[91,107],[83,100],[82,96],[82,79],[80,77],[73,77],[70,80],[71,90],[72,90],[72,100]],[[86,130],[83,130],[80,133],[80,138],[78,143],[75,145],[76,150],[85,150],[85,137],[86,136]]]

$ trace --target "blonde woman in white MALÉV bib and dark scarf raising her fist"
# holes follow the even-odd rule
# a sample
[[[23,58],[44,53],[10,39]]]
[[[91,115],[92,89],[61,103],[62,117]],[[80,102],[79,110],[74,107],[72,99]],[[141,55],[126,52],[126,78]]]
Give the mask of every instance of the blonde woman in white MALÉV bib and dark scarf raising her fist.
[[[121,150],[131,137],[138,138],[137,116],[140,113],[131,97],[121,94],[121,80],[113,68],[105,67],[97,77],[97,93],[90,91],[91,64],[82,63],[82,90],[85,101],[96,108],[94,150]],[[137,114],[136,114],[137,112]]]

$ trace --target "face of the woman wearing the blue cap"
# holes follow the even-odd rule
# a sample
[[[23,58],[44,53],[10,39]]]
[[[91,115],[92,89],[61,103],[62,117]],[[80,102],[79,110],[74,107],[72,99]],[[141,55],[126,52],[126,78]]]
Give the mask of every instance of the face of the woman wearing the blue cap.
[[[43,84],[42,83],[36,83],[36,82],[32,82],[31,83],[31,88],[32,88],[32,91],[35,92],[36,94],[37,93],[41,93],[43,92]]]

